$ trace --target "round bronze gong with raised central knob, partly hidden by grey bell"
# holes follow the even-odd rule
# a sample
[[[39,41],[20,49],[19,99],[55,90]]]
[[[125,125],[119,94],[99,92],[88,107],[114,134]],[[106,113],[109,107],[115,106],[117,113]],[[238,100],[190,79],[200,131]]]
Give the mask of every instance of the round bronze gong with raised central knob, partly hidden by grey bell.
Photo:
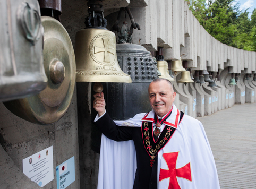
[[[57,122],[69,108],[75,87],[75,56],[69,34],[49,16],[41,16],[47,87],[39,95],[5,102],[13,114],[36,124]]]

